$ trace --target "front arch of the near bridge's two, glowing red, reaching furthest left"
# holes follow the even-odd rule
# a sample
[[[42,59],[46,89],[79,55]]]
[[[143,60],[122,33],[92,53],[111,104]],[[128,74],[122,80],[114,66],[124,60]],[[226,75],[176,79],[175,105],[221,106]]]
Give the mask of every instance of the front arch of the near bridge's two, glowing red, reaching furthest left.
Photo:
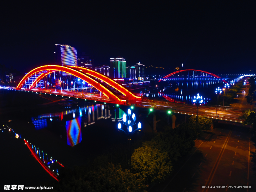
[[[70,73],[70,74],[84,80],[85,82],[91,84],[93,87],[95,87],[100,92],[102,92],[104,95],[106,95],[106,97],[108,97],[111,101],[116,102],[116,103],[125,103],[126,102],[126,100],[120,99],[116,93],[112,92],[104,84],[91,78],[88,74],[85,74],[84,72],[78,71],[76,69],[72,69],[70,67],[59,66],[59,65],[45,65],[45,66],[37,67],[37,68],[29,71],[19,82],[16,89],[21,89],[25,80],[28,79],[33,74],[38,73],[40,71],[49,71],[49,70]]]

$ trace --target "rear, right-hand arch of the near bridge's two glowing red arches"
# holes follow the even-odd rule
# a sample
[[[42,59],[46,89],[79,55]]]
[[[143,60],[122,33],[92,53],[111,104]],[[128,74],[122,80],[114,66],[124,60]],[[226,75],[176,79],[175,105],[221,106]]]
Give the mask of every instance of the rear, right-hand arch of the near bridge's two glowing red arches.
[[[104,81],[108,83],[110,86],[113,88],[117,89],[120,93],[122,93],[124,96],[131,98],[131,99],[141,99],[140,96],[134,95],[132,92],[130,92],[128,89],[126,89],[122,84],[119,84],[118,82],[114,81],[113,79],[98,73],[96,71],[93,71],[91,69],[83,68],[83,67],[78,67],[78,66],[67,66],[73,69],[77,69],[79,71],[82,71],[86,74],[89,74],[97,79],[100,79],[101,81]]]

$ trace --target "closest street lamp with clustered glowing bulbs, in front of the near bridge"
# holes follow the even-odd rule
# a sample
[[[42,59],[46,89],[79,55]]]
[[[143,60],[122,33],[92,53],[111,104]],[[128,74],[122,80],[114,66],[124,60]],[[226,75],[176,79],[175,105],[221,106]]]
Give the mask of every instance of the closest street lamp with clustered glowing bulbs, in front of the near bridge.
[[[133,113],[131,116],[131,109],[128,109],[128,119],[127,115],[123,114],[123,124],[126,126],[122,127],[121,123],[118,123],[118,131],[123,131],[128,139],[128,170],[131,169],[131,135],[137,131],[141,131],[141,123],[138,123],[138,128],[132,128],[134,125],[136,125],[136,116]]]

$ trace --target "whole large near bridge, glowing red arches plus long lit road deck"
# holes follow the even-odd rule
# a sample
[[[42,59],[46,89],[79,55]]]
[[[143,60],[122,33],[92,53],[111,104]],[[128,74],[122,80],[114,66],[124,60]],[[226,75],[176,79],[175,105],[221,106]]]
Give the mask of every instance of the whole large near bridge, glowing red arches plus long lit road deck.
[[[69,73],[85,82],[89,83],[91,86],[98,89],[103,95],[96,95],[90,93],[83,93],[80,91],[70,91],[70,90],[57,90],[57,89],[47,89],[45,87],[39,87],[38,83],[41,79],[48,76],[50,73],[54,73],[56,71],[62,71]],[[182,70],[185,71],[185,70]],[[181,71],[177,71],[178,73]],[[37,74],[37,76],[35,76]],[[173,73],[171,73],[173,74]],[[209,73],[214,77],[218,77],[212,73]],[[34,79],[31,76],[34,75]],[[170,74],[169,74],[170,75]],[[167,76],[166,76],[167,77]],[[169,76],[168,76],[169,77]],[[218,77],[219,78],[219,77]],[[29,82],[29,79],[32,81],[29,86],[27,86],[26,81]],[[25,84],[25,86],[24,86]],[[40,83],[41,85],[41,83]],[[27,86],[27,87],[26,87]],[[110,89],[109,86],[113,87]],[[11,89],[13,90],[13,89]],[[15,90],[15,89],[14,89]],[[175,101],[157,101],[150,100],[146,98],[142,98],[140,96],[135,95],[131,91],[129,91],[126,87],[114,81],[113,79],[104,76],[101,73],[96,71],[78,67],[78,66],[58,66],[58,65],[45,65],[41,67],[37,67],[30,72],[28,72],[23,79],[19,82],[16,90],[19,91],[27,91],[31,93],[40,92],[40,94],[50,94],[56,95],[63,98],[72,97],[77,99],[85,99],[85,100],[94,100],[95,102],[103,102],[113,103],[113,104],[121,104],[132,107],[140,107],[144,110],[148,110],[149,112],[165,112],[167,114],[184,114],[184,115],[196,115],[196,106],[189,105],[185,103],[175,102]],[[122,95],[117,94],[116,91],[119,91]],[[217,114],[216,116],[216,107],[213,106],[201,106],[201,110],[199,110],[199,115],[207,116],[212,119],[218,119],[223,121],[231,121],[240,123],[238,117],[242,115],[242,111],[244,109],[236,109],[236,108],[223,108],[222,106],[217,106]],[[154,119],[155,120],[155,119]],[[154,121],[158,122],[158,121]]]

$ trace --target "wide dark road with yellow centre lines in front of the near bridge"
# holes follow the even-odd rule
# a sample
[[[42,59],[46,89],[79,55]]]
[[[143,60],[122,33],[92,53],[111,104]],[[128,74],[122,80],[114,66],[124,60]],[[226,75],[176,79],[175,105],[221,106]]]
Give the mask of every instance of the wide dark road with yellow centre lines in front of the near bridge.
[[[171,179],[150,191],[247,191],[226,188],[203,190],[203,185],[256,187],[252,162],[249,161],[249,154],[255,152],[255,148],[249,131],[232,125],[219,126],[196,141],[193,154],[179,164],[179,168],[183,167],[174,170]]]

